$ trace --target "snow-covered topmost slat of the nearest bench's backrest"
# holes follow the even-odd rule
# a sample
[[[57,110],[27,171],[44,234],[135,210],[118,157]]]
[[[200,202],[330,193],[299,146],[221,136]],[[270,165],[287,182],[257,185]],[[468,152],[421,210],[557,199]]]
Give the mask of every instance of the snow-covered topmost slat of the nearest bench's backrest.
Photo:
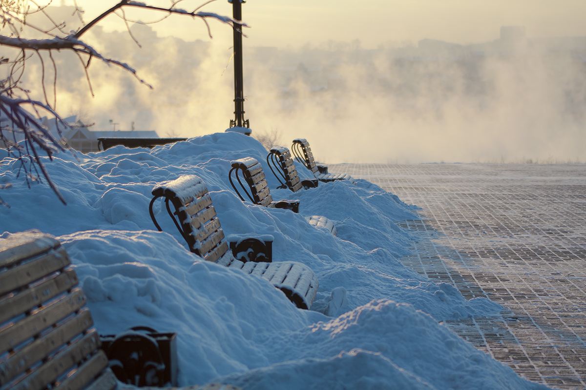
[[[0,240],[0,268],[59,247],[59,241],[46,234],[28,232]]]

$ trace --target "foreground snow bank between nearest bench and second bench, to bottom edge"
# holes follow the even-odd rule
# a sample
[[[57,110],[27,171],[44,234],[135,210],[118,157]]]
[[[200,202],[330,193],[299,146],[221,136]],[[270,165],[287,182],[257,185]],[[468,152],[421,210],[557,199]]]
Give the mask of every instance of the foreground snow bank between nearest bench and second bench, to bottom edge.
[[[220,380],[263,388],[287,370],[317,364],[333,377],[312,368],[284,388],[328,388],[344,367],[373,364],[384,375],[365,378],[355,368],[340,379],[355,388],[395,381],[405,388],[533,388],[406,303],[380,299],[332,319],[295,308],[263,278],[203,261],[167,233],[90,230],[59,239],[100,332],[140,324],[178,333],[182,384],[228,375]]]

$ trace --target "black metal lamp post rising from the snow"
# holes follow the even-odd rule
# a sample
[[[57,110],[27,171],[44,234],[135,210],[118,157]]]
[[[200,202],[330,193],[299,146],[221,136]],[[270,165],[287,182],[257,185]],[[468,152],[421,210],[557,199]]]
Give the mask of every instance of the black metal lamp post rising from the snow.
[[[232,4],[232,17],[242,20],[242,3],[244,0],[228,0]],[[234,119],[230,127],[250,127],[248,119],[244,120],[244,92],[242,72],[242,25],[234,23]]]

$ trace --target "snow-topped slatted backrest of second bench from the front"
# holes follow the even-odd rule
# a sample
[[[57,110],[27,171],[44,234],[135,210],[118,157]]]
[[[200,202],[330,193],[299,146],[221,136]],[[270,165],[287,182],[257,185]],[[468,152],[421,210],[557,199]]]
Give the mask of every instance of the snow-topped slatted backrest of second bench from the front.
[[[175,206],[175,215],[180,222],[175,218],[173,221],[187,241],[189,249],[207,261],[215,262],[224,256],[228,244],[224,240],[224,232],[212,205],[212,198],[199,177],[185,175],[176,180],[162,182],[152,190],[152,195],[155,197],[151,201],[150,212],[157,229],[162,230],[156,223],[152,205],[157,198],[164,196],[169,213],[169,201]]]

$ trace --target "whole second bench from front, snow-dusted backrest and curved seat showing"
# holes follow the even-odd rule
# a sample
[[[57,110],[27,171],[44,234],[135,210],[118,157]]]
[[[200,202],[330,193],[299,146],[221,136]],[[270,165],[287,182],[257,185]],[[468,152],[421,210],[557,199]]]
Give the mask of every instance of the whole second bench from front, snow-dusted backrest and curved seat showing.
[[[152,190],[152,195],[154,198],[151,201],[150,212],[157,229],[162,230],[156,222],[152,206],[157,198],[163,197],[169,215],[193,253],[207,261],[263,277],[280,288],[298,308],[311,308],[319,285],[314,271],[295,261],[268,262],[271,259],[262,253],[249,256],[250,253],[241,247],[248,241],[246,239],[241,239],[237,243],[240,244],[240,248],[238,245],[235,246],[236,257],[240,259],[237,260],[234,253],[229,250],[207,187],[199,177],[185,175],[176,180],[160,183]],[[173,204],[175,213],[171,212],[169,202]],[[262,247],[262,243],[258,245]],[[255,261],[243,261],[249,259]]]

